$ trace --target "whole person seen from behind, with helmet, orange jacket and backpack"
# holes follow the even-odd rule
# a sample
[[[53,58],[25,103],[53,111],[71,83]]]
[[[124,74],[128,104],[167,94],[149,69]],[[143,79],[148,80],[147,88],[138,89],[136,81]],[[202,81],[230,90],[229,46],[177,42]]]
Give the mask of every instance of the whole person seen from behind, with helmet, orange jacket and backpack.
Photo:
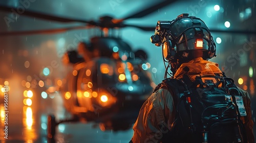
[[[143,104],[130,142],[254,142],[248,93],[208,61],[216,45],[201,19],[158,21],[151,41],[173,75]]]

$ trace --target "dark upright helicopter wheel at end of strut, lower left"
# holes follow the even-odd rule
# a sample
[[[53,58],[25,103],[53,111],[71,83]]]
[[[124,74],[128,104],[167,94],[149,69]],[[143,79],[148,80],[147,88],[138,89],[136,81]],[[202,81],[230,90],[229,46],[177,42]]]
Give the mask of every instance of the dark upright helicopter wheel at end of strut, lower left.
[[[55,121],[55,116],[54,115],[48,115],[48,124],[47,124],[47,139],[48,142],[54,143],[55,139],[55,127],[56,127],[56,121]]]

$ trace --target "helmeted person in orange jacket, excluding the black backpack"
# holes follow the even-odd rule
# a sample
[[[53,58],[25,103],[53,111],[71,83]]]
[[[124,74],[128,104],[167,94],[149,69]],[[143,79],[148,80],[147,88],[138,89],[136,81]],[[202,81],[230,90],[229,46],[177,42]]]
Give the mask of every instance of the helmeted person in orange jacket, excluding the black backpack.
[[[224,76],[217,63],[208,61],[216,56],[216,44],[200,18],[181,14],[172,21],[158,21],[151,41],[162,45],[164,59],[172,71],[171,79],[186,78],[194,82],[198,76]],[[130,143],[180,142],[174,141],[171,132],[177,117],[176,92],[167,89],[166,84],[160,86],[141,107]],[[247,113],[242,117],[247,136],[243,140],[254,142],[250,98],[246,91],[239,90]]]

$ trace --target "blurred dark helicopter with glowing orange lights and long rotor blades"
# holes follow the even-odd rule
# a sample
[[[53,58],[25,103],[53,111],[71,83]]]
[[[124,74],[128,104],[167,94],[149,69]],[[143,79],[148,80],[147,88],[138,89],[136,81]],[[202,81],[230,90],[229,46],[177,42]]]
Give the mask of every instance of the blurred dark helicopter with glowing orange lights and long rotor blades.
[[[65,101],[64,104],[66,108],[74,114],[74,118],[72,118],[72,120],[63,120],[56,123],[55,116],[49,115],[49,138],[53,138],[56,125],[68,121],[94,121],[100,123],[100,128],[102,130],[119,130],[120,127],[121,129],[127,129],[131,126],[131,123],[136,120],[137,115],[131,115],[129,113],[131,112],[132,108],[139,111],[141,104],[146,100],[148,94],[152,91],[152,87],[148,85],[148,83],[150,83],[148,82],[150,81],[150,78],[148,78],[146,75],[146,71],[141,69],[143,68],[143,60],[141,60],[141,58],[135,58],[135,56],[131,54],[133,53],[131,47],[125,41],[122,41],[121,38],[109,36],[109,31],[111,29],[124,27],[135,27],[144,31],[154,31],[155,27],[126,25],[123,23],[123,21],[129,18],[145,16],[171,3],[173,2],[164,1],[159,5],[155,5],[144,11],[135,13],[122,19],[114,19],[110,16],[104,16],[101,17],[99,21],[62,18],[26,10],[23,13],[25,16],[38,17],[61,22],[75,21],[87,23],[87,26],[0,33],[0,35],[5,36],[12,34],[54,34],[73,29],[87,29],[91,27],[99,27],[102,31],[103,36],[91,38],[89,44],[89,47],[91,45],[93,49],[98,49],[100,51],[99,56],[87,62],[75,62],[72,72],[67,77],[67,81],[69,82],[65,85],[66,87],[63,87],[63,90],[61,91],[62,99]],[[9,7],[1,6],[1,10],[11,12],[11,8]],[[228,32],[221,30],[211,31]],[[231,33],[240,32],[233,31]],[[120,69],[120,71],[118,71],[118,69]],[[143,78],[145,80],[142,80]],[[142,91],[144,95],[143,93],[140,93]],[[137,104],[136,101],[140,103]],[[135,105],[138,105],[138,107],[135,107]],[[119,114],[124,113],[125,111],[128,112],[126,116]],[[122,118],[125,118],[125,120],[122,120]],[[121,121],[122,123],[118,121]],[[125,124],[123,124],[123,122]]]

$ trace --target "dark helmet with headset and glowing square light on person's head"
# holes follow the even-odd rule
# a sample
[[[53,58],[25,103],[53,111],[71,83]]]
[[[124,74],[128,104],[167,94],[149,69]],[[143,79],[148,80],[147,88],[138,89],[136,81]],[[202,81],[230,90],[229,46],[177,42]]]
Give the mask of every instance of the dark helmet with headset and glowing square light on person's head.
[[[184,62],[216,56],[216,44],[204,21],[187,13],[172,21],[158,21],[151,42],[162,45],[163,57],[171,64],[173,74]]]

